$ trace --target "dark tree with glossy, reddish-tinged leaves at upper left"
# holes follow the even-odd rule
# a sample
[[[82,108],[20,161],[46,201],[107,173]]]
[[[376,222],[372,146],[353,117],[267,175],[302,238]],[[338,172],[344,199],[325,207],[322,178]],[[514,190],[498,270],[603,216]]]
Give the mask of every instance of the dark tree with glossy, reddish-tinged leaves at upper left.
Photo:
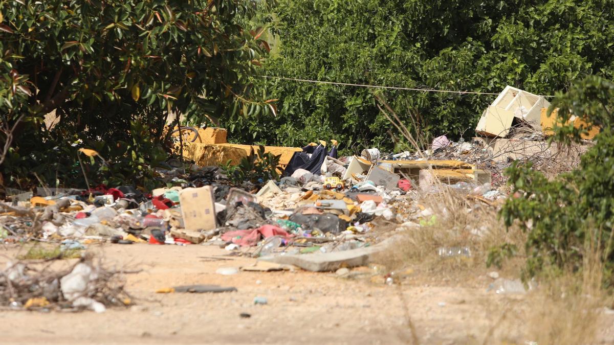
[[[268,52],[262,28],[240,25],[255,8],[245,0],[0,1],[0,143],[10,144],[7,128],[20,120],[2,172],[15,181],[16,172],[37,171],[52,183],[58,157],[48,151],[59,146],[74,162],[74,139],[109,160],[136,154],[147,165],[157,160],[151,142],[117,150],[142,129],[134,121],[158,142],[171,112],[216,121],[273,111],[246,83]],[[60,124],[46,133],[42,117],[52,111]]]

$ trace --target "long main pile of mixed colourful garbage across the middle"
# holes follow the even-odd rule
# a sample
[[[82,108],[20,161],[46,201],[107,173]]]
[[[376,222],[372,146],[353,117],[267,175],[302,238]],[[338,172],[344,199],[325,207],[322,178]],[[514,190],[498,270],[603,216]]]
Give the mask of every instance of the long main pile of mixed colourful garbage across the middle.
[[[99,185],[17,193],[0,203],[2,241],[36,238],[62,242],[66,249],[85,249],[91,242],[204,243],[254,257],[280,251],[326,253],[370,246],[378,224],[419,217],[413,201],[424,181],[414,177],[429,169],[433,176],[460,174],[451,188],[461,192],[491,192],[488,181],[478,183],[475,167],[464,162],[437,163],[435,169],[418,162],[405,169],[404,161],[386,166],[387,161],[370,154],[334,156],[334,145],[330,152],[325,143],[308,145],[290,160],[281,180],[262,187],[233,187],[219,168],[193,167],[187,172],[159,169],[163,182],[172,187],[149,192]]]

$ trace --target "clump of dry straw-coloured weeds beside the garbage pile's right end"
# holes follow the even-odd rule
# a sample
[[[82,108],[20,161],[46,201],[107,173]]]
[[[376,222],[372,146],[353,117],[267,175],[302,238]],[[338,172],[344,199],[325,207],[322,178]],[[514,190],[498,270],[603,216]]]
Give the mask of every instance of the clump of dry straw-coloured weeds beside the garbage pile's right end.
[[[394,250],[378,258],[391,269],[422,266],[440,273],[486,268],[489,249],[504,243],[524,247],[526,236],[518,228],[506,229],[497,217],[497,209],[468,200],[466,196],[446,188],[424,196],[419,201],[432,215],[422,217],[419,227],[400,232]],[[440,249],[467,249],[469,255],[442,257]],[[513,260],[518,261],[518,260]],[[509,265],[518,273],[518,265]]]

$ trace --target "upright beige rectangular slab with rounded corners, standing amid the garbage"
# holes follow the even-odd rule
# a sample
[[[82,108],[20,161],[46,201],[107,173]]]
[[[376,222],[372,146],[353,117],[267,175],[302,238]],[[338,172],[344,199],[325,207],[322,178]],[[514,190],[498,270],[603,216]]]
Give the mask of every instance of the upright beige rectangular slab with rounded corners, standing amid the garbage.
[[[187,230],[211,230],[217,228],[213,188],[185,188],[179,193],[181,215]]]

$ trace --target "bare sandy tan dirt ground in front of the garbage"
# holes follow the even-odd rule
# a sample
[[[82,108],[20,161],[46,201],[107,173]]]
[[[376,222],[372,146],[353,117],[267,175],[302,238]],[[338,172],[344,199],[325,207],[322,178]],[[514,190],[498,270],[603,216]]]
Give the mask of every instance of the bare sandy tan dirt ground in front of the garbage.
[[[17,250],[4,250],[0,264]],[[1,343],[403,344],[413,342],[412,327],[420,344],[530,341],[523,335],[522,312],[508,316],[517,319],[505,327],[501,322],[502,311],[527,308],[526,297],[488,291],[489,278],[481,274],[459,281],[415,273],[401,286],[383,284],[383,277],[370,274],[372,268],[353,269],[365,273],[354,279],[301,270],[223,276],[216,269],[255,259],[197,245],[104,244],[93,250],[109,266],[142,269],[126,277],[134,305],[102,314],[2,311]],[[155,293],[188,284],[234,286],[238,292]],[[254,297],[268,303],[255,305]],[[613,321],[600,320],[599,343],[614,343]]]

